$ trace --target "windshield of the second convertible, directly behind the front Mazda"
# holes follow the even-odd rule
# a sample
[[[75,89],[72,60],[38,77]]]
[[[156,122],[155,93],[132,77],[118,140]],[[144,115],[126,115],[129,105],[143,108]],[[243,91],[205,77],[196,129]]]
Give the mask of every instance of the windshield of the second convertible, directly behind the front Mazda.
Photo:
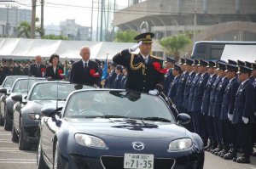
[[[70,83],[44,82],[32,89],[29,100],[66,100],[69,93],[75,90]]]

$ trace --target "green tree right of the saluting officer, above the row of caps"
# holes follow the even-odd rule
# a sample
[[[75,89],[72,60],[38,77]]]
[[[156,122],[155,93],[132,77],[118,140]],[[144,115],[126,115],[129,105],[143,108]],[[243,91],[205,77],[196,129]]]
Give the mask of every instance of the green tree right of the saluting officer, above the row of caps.
[[[190,43],[191,39],[185,34],[163,37],[160,40],[160,46],[165,50],[166,54],[174,55],[176,60],[180,58],[180,51]]]

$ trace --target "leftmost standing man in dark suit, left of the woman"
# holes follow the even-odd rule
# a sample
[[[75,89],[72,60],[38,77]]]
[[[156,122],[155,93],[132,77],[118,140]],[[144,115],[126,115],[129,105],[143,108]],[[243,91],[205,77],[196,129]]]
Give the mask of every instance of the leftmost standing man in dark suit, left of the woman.
[[[35,64],[29,67],[29,76],[44,77],[45,75],[45,65],[42,64],[42,58],[40,55],[36,56]]]

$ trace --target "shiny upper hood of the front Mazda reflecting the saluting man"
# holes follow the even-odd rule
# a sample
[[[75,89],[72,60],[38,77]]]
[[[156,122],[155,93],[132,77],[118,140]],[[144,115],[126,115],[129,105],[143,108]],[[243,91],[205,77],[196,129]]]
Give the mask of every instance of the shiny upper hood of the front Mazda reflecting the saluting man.
[[[97,136],[137,138],[181,138],[187,130],[176,123],[137,119],[66,119],[73,131]],[[70,126],[68,125],[68,126]]]

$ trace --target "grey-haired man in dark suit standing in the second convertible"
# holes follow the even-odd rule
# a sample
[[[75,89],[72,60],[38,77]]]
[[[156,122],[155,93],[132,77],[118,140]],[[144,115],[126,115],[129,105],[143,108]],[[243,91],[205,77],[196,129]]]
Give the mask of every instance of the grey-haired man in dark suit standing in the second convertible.
[[[84,85],[100,86],[100,75],[98,65],[95,61],[90,60],[90,48],[82,47],[80,49],[81,60],[73,63],[69,76],[69,82]]]

